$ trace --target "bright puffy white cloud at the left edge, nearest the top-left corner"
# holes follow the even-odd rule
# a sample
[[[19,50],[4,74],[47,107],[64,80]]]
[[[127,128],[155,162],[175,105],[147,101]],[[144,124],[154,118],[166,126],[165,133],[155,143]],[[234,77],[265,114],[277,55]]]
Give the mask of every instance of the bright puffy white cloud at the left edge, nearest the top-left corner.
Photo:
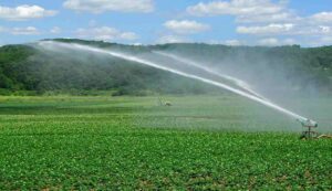
[[[39,6],[19,6],[17,8],[1,7],[0,19],[12,21],[24,21],[30,19],[40,19],[44,17],[55,15],[56,11],[45,10]]]

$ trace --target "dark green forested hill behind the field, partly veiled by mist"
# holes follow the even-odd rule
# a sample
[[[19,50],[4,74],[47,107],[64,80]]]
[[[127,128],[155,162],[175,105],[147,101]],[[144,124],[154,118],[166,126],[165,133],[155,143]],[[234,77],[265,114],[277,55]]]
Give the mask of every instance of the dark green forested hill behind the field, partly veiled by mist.
[[[62,40],[105,49],[146,53],[166,51],[209,63],[218,71],[230,72],[258,87],[282,89],[283,84],[298,92],[332,92],[332,46],[303,49],[298,45],[226,46],[209,44],[122,45],[98,41]],[[101,57],[54,55],[27,45],[0,47],[0,94],[71,93],[93,94],[108,91],[113,95],[204,94],[215,87],[168,72],[131,62]]]

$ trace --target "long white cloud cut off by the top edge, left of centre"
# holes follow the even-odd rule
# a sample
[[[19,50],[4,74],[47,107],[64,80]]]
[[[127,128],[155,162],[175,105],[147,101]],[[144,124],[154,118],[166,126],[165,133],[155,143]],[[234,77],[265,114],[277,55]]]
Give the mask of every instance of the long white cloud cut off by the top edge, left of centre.
[[[154,10],[153,0],[66,0],[63,7],[92,13],[105,11],[152,12]]]

